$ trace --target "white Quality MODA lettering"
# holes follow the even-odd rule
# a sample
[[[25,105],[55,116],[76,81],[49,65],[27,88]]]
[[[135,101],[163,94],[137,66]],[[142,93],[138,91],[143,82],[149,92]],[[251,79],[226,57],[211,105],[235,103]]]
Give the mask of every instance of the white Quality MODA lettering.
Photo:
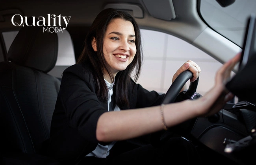
[[[63,30],[65,30],[67,28],[67,25],[69,23],[70,17],[71,16],[61,16],[58,15],[56,16],[55,14],[47,14],[47,18],[48,21],[46,22],[45,17],[43,16],[39,16],[38,20],[35,20],[35,16],[32,16],[32,24],[28,24],[28,17],[24,16],[24,18],[19,15],[19,14],[15,14],[13,15],[13,17],[11,17],[11,23],[14,26],[23,26],[24,24],[26,24],[26,26],[44,26],[43,27],[43,32],[47,32],[47,33],[59,33],[59,32],[63,32]],[[14,22],[14,18],[20,18],[20,22]],[[64,21],[61,23],[61,21]],[[47,23],[47,26],[46,26]],[[64,23],[64,26],[62,26],[62,24]]]

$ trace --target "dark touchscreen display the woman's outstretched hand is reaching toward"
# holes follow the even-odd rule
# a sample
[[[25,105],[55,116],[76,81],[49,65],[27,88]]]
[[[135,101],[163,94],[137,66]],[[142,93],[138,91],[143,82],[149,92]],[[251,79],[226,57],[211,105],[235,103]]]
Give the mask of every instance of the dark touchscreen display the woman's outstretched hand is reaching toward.
[[[243,49],[239,70],[226,88],[239,98],[239,101],[247,101],[256,104],[256,16],[250,15],[246,33],[244,36]]]

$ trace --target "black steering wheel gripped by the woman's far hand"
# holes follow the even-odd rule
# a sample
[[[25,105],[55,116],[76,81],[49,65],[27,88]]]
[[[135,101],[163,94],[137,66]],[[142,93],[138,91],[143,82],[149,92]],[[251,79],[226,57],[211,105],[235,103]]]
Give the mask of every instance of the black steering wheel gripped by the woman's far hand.
[[[167,90],[165,96],[163,97],[162,104],[168,104],[173,103],[176,99],[176,97],[180,94],[180,90],[183,88],[185,83],[193,77],[193,73],[190,70],[186,70],[174,80],[174,82],[171,84],[170,88]],[[187,99],[192,98],[192,96],[195,94],[197,90],[199,77],[196,81],[190,82],[188,90],[185,92]],[[165,141],[165,139],[169,139],[170,132],[175,132],[181,135],[186,135],[190,133],[191,128],[195,124],[196,119],[190,119],[188,121],[185,121],[184,123],[181,123],[179,125],[176,125],[174,127],[169,128],[167,131],[160,131],[156,132],[151,135],[150,141],[152,145],[160,145],[161,141]]]

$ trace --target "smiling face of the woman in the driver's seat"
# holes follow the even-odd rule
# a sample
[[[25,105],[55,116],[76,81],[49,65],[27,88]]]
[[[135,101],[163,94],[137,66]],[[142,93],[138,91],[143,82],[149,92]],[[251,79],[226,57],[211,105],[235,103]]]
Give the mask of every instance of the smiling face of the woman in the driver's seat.
[[[109,23],[103,39],[103,53],[114,76],[132,62],[136,46],[134,26],[130,21],[116,18]]]

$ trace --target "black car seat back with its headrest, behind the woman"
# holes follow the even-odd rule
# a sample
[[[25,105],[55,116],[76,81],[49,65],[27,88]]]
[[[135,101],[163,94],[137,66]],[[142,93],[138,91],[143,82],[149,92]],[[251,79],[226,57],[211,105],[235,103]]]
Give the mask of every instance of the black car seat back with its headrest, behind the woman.
[[[0,62],[1,152],[36,154],[49,138],[60,81],[47,74],[56,63],[58,36],[22,27]]]

